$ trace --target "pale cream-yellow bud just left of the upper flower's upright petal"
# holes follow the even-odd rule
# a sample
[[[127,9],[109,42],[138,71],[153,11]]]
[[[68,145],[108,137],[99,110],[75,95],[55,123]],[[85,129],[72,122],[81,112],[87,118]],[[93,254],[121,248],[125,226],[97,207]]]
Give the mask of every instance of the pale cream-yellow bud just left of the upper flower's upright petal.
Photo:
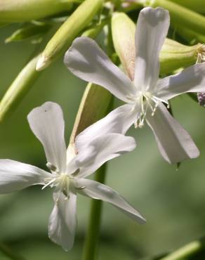
[[[112,15],[112,40],[126,74],[135,73],[135,24],[125,13]]]

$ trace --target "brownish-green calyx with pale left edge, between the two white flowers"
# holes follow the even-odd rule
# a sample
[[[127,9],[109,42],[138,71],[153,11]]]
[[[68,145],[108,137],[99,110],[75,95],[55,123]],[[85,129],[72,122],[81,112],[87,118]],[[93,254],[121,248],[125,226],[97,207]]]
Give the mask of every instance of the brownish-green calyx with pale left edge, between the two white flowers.
[[[74,144],[76,136],[81,131],[105,117],[111,100],[112,94],[109,91],[95,84],[88,83],[70,136],[71,145]]]

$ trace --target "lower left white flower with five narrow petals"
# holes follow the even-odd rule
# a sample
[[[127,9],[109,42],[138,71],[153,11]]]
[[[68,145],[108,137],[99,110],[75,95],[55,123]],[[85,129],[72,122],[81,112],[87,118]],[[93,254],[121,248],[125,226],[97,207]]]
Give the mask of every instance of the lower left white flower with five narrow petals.
[[[78,137],[66,150],[64,119],[56,103],[47,102],[28,115],[29,126],[39,138],[46,153],[51,173],[29,164],[13,160],[0,160],[0,193],[10,193],[40,184],[43,189],[53,188],[55,206],[48,224],[48,235],[53,242],[69,250],[76,230],[77,193],[110,202],[133,219],[145,219],[123,197],[110,187],[87,179],[102,164],[123,152],[135,148],[135,140],[122,134],[95,133],[91,127],[89,139]],[[93,135],[93,136],[92,136]]]

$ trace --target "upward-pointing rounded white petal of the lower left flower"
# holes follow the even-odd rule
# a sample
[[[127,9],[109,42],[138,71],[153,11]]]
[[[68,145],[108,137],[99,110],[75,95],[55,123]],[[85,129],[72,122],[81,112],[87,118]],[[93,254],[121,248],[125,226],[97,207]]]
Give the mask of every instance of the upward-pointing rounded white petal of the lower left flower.
[[[29,112],[27,118],[35,136],[44,145],[47,161],[57,167],[58,171],[65,171],[65,126],[60,105],[46,102]]]

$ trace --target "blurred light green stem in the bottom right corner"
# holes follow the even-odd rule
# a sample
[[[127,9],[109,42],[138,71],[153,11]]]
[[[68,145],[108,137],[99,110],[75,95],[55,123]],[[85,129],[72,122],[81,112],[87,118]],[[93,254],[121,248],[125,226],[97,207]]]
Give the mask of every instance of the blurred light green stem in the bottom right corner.
[[[168,254],[168,256],[165,256],[161,258],[160,260],[183,260],[187,259],[187,256],[192,256],[196,254],[197,252],[201,251],[201,249],[204,249],[204,239],[196,240],[193,242],[190,242],[189,244],[185,245],[184,247],[181,247],[180,249],[176,250],[175,252]]]

